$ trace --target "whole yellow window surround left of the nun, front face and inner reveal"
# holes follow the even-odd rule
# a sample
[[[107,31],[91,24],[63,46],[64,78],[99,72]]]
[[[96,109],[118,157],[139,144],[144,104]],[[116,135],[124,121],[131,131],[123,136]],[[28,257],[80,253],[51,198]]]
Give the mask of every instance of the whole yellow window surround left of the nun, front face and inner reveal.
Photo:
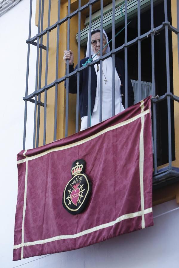
[[[48,0],[44,1],[44,20],[43,29],[47,28],[48,22]],[[76,9],[78,1],[71,1],[71,12]],[[73,7],[74,6],[74,7]],[[38,26],[38,9],[39,2],[36,2],[36,26]],[[58,1],[51,1],[50,25],[54,24],[58,18]],[[61,1],[60,18],[64,18],[68,13],[68,1]],[[81,29],[84,28],[86,15],[81,14]],[[76,41],[76,33],[78,31],[78,15],[70,20],[70,49],[74,52],[74,63],[77,64],[78,43]],[[56,66],[56,36],[57,28],[50,32],[49,38],[49,57],[48,57],[48,80],[50,84],[55,80]],[[47,35],[43,36],[43,44],[47,45]],[[67,49],[67,22],[60,26],[60,42],[59,42],[59,60],[58,60],[58,78],[65,75],[66,65],[63,60],[64,50]],[[40,51],[40,50],[39,50]],[[45,66],[46,66],[46,51],[42,53],[42,79],[41,87],[45,85]],[[84,48],[81,49],[81,59],[84,57]],[[44,102],[44,93],[41,94],[41,101]],[[57,139],[63,138],[65,134],[65,103],[66,90],[64,82],[58,85],[58,112],[57,112]],[[47,91],[47,127],[46,127],[46,143],[53,141],[54,135],[54,104],[55,104],[55,87]],[[40,135],[39,146],[43,145],[44,132],[44,108],[40,108]],[[76,94],[69,94],[69,123],[68,135],[75,133],[76,120]]]

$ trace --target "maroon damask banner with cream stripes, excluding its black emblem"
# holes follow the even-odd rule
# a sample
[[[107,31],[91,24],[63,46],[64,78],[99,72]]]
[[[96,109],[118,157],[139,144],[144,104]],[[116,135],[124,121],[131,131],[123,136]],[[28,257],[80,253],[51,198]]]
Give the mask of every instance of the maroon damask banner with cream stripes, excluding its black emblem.
[[[153,225],[150,97],[87,130],[17,155],[13,260],[89,246]],[[86,161],[89,201],[62,197],[76,159]]]

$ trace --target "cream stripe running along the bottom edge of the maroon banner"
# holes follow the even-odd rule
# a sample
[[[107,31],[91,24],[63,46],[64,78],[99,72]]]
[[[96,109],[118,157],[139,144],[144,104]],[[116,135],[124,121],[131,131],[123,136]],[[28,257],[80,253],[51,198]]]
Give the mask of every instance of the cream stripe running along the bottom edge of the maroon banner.
[[[145,209],[143,211],[144,214],[148,214],[148,213],[151,213],[151,212],[152,212],[152,208],[147,208],[147,209]],[[116,223],[121,222],[121,221],[123,221],[125,219],[132,219],[132,218],[135,218],[135,217],[138,217],[138,216],[141,216],[141,215],[142,215],[142,211],[137,211],[137,212],[134,212],[134,213],[125,214],[125,215],[122,215],[122,216],[118,217],[115,221],[95,226],[93,228],[84,230],[84,231],[82,231],[80,233],[75,233],[75,234],[72,234],[72,235],[54,236],[54,237],[51,237],[51,238],[47,238],[47,239],[44,239],[44,240],[37,240],[37,241],[33,241],[33,242],[25,242],[23,244],[21,243],[21,244],[15,245],[14,249],[17,249],[19,247],[33,246],[33,245],[37,245],[37,244],[45,244],[45,243],[48,243],[48,242],[53,242],[53,241],[61,240],[61,239],[77,238],[77,237],[84,236],[86,234],[89,234],[89,233],[92,233],[92,232],[95,232],[95,231],[98,231],[98,230],[101,230],[101,229],[104,229],[104,228],[107,228],[107,227],[110,227],[110,226],[113,226]]]

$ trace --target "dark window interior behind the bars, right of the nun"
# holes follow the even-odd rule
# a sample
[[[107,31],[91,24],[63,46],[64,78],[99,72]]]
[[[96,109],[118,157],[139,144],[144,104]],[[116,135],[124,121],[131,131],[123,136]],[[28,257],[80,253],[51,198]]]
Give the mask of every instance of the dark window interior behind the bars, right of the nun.
[[[168,21],[172,24],[171,1],[168,4]],[[154,7],[154,27],[165,21],[163,2]],[[115,34],[122,28],[116,28]],[[137,17],[133,18],[128,25],[128,41],[138,36]],[[150,9],[141,14],[141,34],[148,32],[150,25]],[[112,39],[112,32],[108,33],[109,40]],[[115,48],[124,43],[124,31],[115,38]],[[110,43],[112,48],[112,42]],[[117,57],[124,60],[124,51],[119,52]],[[170,92],[173,93],[173,64],[172,64],[172,32],[169,31],[169,64],[170,64]],[[152,82],[152,56],[150,36],[141,42],[141,80]],[[130,79],[138,80],[138,45],[128,48],[128,73]],[[166,52],[165,52],[165,30],[155,36],[155,87],[159,96],[167,92],[166,86]],[[172,123],[172,161],[175,160],[175,134],[174,134],[174,110],[171,101],[171,123]],[[158,166],[168,163],[168,118],[167,100],[157,104],[157,164]]]

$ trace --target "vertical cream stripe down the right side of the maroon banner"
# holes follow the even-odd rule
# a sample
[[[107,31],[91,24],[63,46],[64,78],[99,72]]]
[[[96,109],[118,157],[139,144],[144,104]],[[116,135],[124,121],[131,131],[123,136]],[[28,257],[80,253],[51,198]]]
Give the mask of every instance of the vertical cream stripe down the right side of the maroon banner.
[[[143,113],[144,102],[141,100],[141,113]],[[139,176],[140,176],[140,188],[141,188],[141,214],[142,214],[142,229],[145,228],[145,217],[144,217],[144,194],[143,194],[143,164],[144,164],[144,145],[143,145],[143,126],[145,116],[141,116],[141,133],[139,141]]]

